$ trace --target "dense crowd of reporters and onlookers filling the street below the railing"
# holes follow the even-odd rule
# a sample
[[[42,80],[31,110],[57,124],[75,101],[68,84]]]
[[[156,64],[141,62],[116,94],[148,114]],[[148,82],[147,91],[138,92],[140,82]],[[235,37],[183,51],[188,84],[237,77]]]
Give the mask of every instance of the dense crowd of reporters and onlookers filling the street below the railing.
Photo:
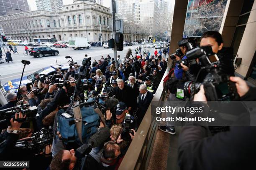
[[[84,161],[74,154],[82,143],[76,140],[67,142],[65,132],[59,130],[59,117],[65,111],[68,113],[72,106],[72,95],[75,92],[72,87],[76,86],[81,68],[77,64],[64,72],[58,68],[55,74],[60,77],[59,81],[64,82],[62,86],[49,77],[36,73],[31,84],[21,86],[18,93],[9,92],[6,95],[8,104],[0,107],[0,110],[25,104],[36,106],[38,110],[32,120],[23,123],[16,120],[28,116],[22,112],[15,113],[10,119],[10,125],[0,135],[1,160],[29,160],[30,169],[72,170],[80,169],[83,164],[84,169],[88,170],[118,169],[160,84],[167,62],[161,54],[155,56],[147,51],[144,55],[136,54],[134,58],[121,59],[118,55],[118,60],[115,61],[107,55],[87,63],[88,72],[84,75],[88,76],[85,77],[86,81],[85,78],[82,80],[83,83],[86,82],[86,90],[82,90],[82,102],[107,96],[107,99],[100,99],[104,103],[112,96],[116,103],[113,108],[102,110],[104,117],[96,125],[99,131],[104,127],[110,129],[108,140],[100,147],[92,148]],[[108,88],[112,90],[108,91]],[[99,115],[98,118],[102,117]],[[126,126],[129,124],[126,134],[121,133],[126,128],[124,123]],[[46,145],[40,153],[15,147],[17,141],[30,138],[43,128],[53,132],[53,142]]]

